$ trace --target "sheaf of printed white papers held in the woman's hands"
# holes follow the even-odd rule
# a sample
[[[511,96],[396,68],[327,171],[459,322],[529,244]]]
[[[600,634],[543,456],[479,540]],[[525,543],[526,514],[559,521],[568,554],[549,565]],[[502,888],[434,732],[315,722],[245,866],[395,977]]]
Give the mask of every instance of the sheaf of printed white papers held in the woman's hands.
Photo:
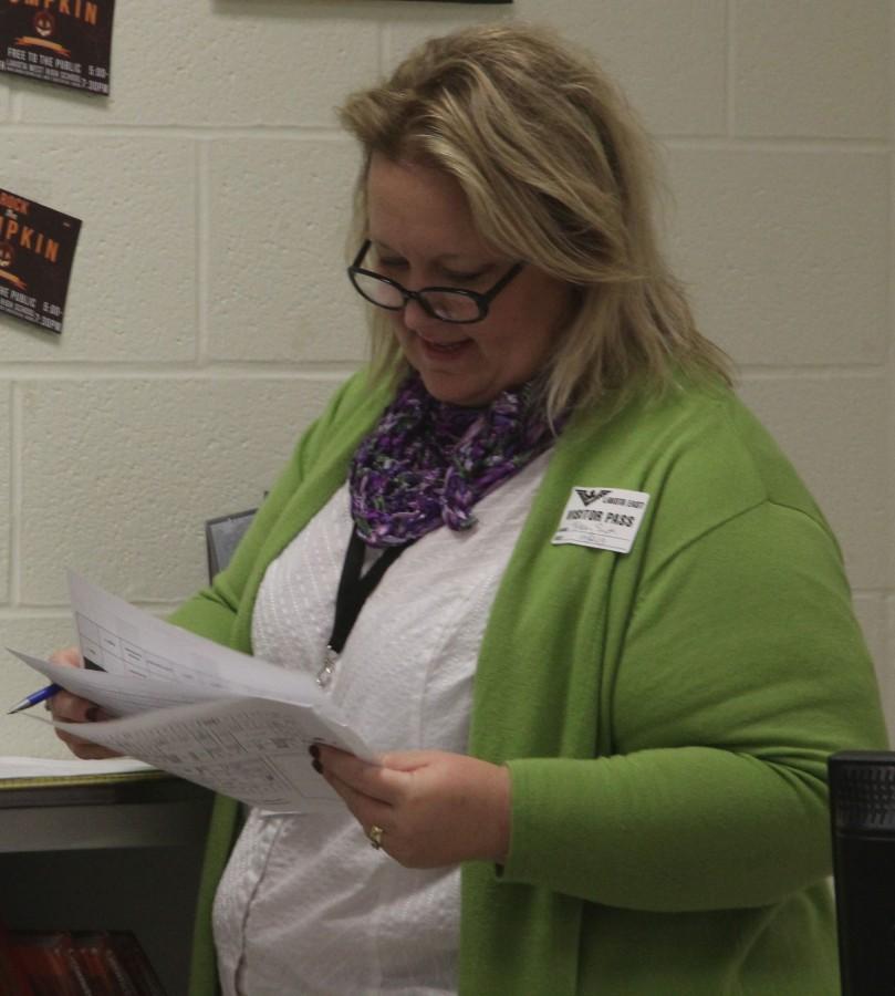
[[[85,668],[11,650],[115,717],[58,728],[270,812],[341,800],[311,744],[375,760],[314,679],[163,622],[70,572]],[[38,718],[38,717],[34,717]]]

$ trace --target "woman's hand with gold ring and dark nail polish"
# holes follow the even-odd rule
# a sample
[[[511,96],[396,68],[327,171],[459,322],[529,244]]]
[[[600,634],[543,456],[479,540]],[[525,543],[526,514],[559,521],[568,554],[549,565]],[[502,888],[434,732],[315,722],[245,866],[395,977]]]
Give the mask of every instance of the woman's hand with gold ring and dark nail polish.
[[[371,765],[320,746],[323,777],[364,832],[382,829],[382,849],[407,868],[497,861],[510,843],[510,772],[443,750],[386,754]]]

